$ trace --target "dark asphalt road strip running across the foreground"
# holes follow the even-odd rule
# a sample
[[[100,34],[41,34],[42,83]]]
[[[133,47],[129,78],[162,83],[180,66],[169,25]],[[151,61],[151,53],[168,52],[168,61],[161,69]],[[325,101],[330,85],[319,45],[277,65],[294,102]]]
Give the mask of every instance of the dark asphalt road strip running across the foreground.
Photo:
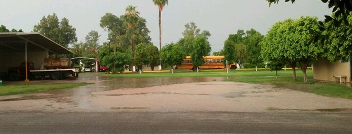
[[[0,112],[0,133],[352,133],[350,112]]]

